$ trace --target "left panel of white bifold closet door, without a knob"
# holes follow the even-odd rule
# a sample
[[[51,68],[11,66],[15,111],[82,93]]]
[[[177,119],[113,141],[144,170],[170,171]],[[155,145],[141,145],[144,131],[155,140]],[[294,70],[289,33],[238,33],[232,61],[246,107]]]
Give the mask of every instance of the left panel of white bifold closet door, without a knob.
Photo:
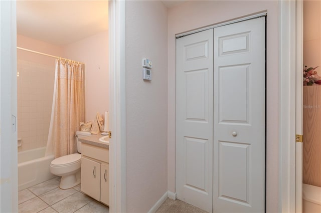
[[[177,39],[177,198],[212,211],[213,29]]]

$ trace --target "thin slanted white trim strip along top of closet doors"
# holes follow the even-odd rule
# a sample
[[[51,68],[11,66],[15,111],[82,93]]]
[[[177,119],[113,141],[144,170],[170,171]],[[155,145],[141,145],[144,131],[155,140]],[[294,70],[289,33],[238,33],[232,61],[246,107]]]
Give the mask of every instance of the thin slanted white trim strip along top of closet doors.
[[[192,31],[187,31],[187,32],[183,32],[183,33],[177,34],[176,38],[179,38],[179,37],[182,37],[182,36],[185,36],[185,35],[189,35],[189,34],[194,34],[194,33],[197,33],[197,32],[200,32],[200,31],[204,31],[204,30],[207,30],[207,29],[211,29],[211,28],[224,26],[224,25],[231,24],[231,23],[240,22],[240,21],[243,21],[243,20],[249,20],[249,19],[256,18],[256,17],[265,16],[266,14],[267,14],[267,12],[259,12],[259,13],[256,13],[256,14],[252,14],[252,15],[247,15],[247,16],[243,16],[243,17],[240,17],[240,18],[236,18],[236,19],[233,19],[233,20],[223,21],[223,22],[216,23],[216,24],[213,24],[213,25],[210,25],[210,26],[206,26],[206,27],[198,28],[198,29],[195,29],[195,30],[192,30]]]

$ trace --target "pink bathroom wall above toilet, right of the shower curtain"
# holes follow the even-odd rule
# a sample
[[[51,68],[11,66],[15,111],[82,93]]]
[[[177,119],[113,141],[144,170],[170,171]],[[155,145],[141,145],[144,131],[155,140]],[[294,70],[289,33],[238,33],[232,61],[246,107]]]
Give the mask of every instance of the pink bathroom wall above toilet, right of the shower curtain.
[[[109,110],[108,54],[108,31],[64,46],[65,57],[86,64],[86,121]]]

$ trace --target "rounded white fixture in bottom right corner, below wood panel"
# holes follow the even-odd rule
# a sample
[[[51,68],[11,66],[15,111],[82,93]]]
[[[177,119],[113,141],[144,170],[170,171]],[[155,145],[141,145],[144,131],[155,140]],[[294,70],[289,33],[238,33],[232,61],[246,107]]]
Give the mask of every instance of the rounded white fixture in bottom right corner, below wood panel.
[[[321,212],[321,187],[302,184],[303,213]]]

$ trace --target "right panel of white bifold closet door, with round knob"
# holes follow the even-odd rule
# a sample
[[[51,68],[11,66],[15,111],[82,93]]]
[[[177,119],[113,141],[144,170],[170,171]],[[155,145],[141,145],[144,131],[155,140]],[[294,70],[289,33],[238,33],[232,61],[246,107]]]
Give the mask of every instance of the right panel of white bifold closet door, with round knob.
[[[264,212],[265,18],[214,28],[214,49],[213,211]]]

